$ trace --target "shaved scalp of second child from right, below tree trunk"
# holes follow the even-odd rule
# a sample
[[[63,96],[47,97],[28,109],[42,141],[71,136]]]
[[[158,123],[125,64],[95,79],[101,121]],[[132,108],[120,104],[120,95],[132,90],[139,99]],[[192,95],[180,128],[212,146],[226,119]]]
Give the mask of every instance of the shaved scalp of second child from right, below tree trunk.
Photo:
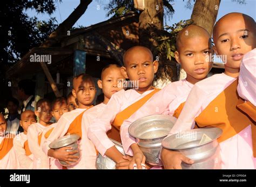
[[[209,42],[211,42],[210,34],[203,27],[198,25],[188,25],[184,27],[184,29],[177,34],[177,38],[176,38],[177,51],[179,51],[180,47],[183,46],[184,40],[195,38],[195,37],[206,37],[209,40]]]

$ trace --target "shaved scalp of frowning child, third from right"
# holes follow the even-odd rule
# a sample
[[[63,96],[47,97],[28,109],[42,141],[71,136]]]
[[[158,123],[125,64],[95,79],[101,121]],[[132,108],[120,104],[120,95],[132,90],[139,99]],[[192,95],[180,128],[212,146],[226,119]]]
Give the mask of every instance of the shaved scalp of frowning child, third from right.
[[[138,55],[140,53],[146,53],[150,56],[150,58],[152,59],[151,61],[153,61],[153,54],[152,52],[150,51],[149,48],[147,47],[144,47],[144,46],[133,46],[131,47],[129,50],[127,50],[125,53],[124,53],[124,56],[123,56],[123,62],[124,62],[124,66],[127,67],[127,59],[129,59],[129,56],[131,54],[134,54],[134,53],[137,53]]]

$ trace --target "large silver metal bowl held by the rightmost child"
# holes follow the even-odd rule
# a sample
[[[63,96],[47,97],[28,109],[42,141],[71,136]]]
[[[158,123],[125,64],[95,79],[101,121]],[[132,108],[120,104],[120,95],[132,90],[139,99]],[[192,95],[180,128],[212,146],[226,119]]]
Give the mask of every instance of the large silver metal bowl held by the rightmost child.
[[[201,142],[203,135],[211,140]],[[220,128],[200,128],[181,131],[166,137],[162,146],[179,151],[194,161],[193,164],[181,163],[183,169],[221,169],[220,146],[217,138],[222,134]]]

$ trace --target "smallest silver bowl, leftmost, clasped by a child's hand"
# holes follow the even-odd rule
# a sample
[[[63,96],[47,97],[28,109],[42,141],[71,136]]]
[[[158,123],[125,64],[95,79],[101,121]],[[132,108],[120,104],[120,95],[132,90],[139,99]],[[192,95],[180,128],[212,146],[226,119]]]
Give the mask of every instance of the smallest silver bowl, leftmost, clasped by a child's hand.
[[[74,156],[79,156],[80,157],[80,151],[79,151],[79,145],[78,145],[78,139],[80,138],[79,135],[77,134],[71,134],[71,135],[66,135],[66,136],[63,136],[63,137],[60,137],[58,138],[57,140],[51,142],[49,144],[49,147],[51,149],[59,149],[59,148],[62,148],[62,147],[71,147],[73,149],[71,150],[67,150],[67,151],[74,151],[74,150],[78,150],[78,153],[74,154]],[[77,162],[79,161],[79,158],[77,159]],[[72,162],[70,165],[67,164],[66,162],[64,161],[60,161],[58,160],[58,162],[67,167],[67,166],[70,166],[70,165],[74,165],[76,164],[77,162]]]

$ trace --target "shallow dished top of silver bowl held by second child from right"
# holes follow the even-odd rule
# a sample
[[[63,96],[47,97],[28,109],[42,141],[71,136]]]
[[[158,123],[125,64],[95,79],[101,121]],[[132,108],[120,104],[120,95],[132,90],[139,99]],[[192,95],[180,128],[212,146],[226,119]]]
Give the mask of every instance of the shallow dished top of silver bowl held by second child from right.
[[[135,138],[149,140],[169,134],[176,122],[170,115],[150,115],[134,121],[129,127],[129,134]]]

